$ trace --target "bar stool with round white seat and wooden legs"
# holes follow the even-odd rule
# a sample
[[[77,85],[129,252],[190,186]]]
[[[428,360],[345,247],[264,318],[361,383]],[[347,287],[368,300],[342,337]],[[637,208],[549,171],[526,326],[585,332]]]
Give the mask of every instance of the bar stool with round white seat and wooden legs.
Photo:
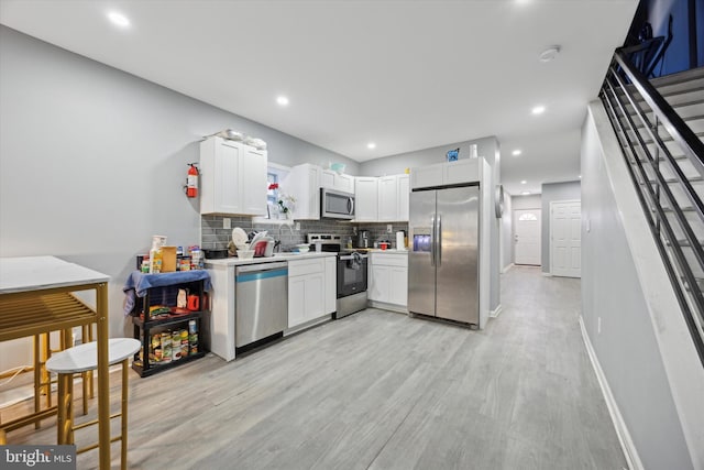
[[[130,357],[140,350],[141,343],[133,338],[111,338],[108,345],[110,365],[122,362],[122,404],[120,413],[110,418],[121,416],[120,435],[110,439],[121,440],[121,468],[128,462],[128,371]],[[74,430],[98,424],[98,419],[74,426],[74,374],[98,369],[97,342],[87,342],[65,349],[46,361],[46,369],[58,374],[58,417],[57,444],[74,444]],[[98,448],[98,442],[76,450],[81,453]]]

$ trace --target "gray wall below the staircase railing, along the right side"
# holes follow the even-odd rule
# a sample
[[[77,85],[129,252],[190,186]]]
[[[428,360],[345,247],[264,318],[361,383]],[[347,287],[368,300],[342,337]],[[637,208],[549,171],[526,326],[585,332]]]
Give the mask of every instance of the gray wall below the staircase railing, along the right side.
[[[581,163],[582,220],[591,221],[590,231],[582,225],[584,326],[645,468],[692,469],[605,157],[587,117]]]

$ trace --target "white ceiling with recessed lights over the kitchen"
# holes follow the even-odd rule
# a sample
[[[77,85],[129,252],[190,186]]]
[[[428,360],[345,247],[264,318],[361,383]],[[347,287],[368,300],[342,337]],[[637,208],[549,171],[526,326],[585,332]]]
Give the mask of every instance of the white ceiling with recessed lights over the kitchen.
[[[0,0],[0,22],[359,162],[496,135],[504,186],[520,194],[579,177],[586,103],[636,7]],[[111,10],[131,26],[110,24]],[[561,53],[540,63],[552,44]],[[287,108],[276,105],[279,94]],[[538,103],[547,111],[534,117]]]

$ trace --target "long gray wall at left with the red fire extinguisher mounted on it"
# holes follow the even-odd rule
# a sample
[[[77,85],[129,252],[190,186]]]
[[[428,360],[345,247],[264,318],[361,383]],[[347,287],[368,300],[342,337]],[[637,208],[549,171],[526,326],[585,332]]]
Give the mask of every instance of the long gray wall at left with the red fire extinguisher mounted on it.
[[[359,172],[349,159],[6,26],[0,102],[0,256],[53,254],[109,274],[112,336],[123,335],[122,285],[152,234],[198,242],[197,200],[182,186],[204,135],[233,128],[264,139],[270,161],[340,161]]]

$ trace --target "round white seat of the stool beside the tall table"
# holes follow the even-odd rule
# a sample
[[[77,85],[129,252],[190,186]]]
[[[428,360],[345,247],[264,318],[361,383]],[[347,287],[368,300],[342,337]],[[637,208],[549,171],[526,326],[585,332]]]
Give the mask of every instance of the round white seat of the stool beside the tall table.
[[[46,369],[59,374],[77,373],[98,369],[97,342],[86,342],[57,352],[46,361]],[[117,364],[140,350],[142,345],[134,338],[111,338],[108,343],[108,362]]]

